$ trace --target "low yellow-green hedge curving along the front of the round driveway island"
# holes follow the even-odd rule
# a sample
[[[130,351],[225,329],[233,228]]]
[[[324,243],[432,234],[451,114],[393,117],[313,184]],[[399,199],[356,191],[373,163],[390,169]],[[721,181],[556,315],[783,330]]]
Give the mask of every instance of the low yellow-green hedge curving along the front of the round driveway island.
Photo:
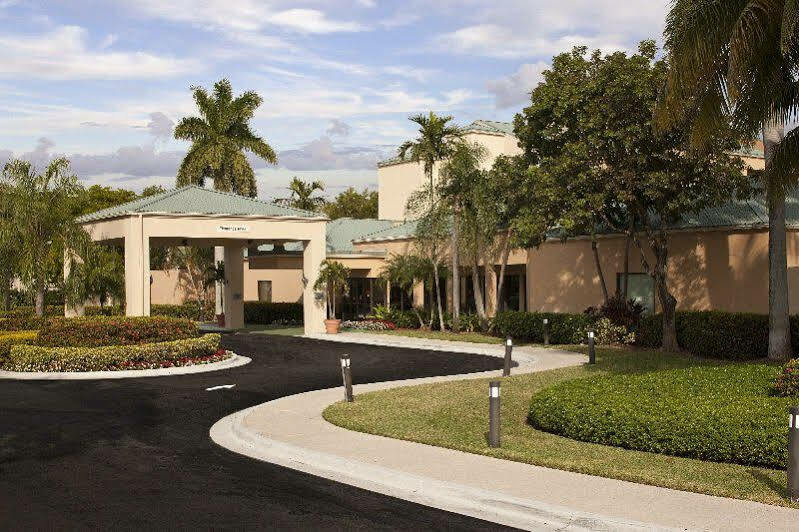
[[[186,365],[225,357],[218,334],[171,342],[103,347],[15,345],[3,362],[10,371],[104,371]]]

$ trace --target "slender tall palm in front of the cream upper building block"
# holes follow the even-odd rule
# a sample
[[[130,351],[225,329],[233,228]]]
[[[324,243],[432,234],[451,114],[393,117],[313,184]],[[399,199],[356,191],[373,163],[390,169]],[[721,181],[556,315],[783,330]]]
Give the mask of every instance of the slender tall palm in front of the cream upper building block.
[[[436,163],[446,160],[452,155],[458,141],[463,137],[463,130],[457,126],[450,125],[452,121],[451,116],[438,116],[432,111],[428,115],[418,114],[410,117],[411,122],[419,125],[419,136],[416,140],[409,140],[404,142],[398,151],[399,157],[408,161],[420,163],[424,169],[425,176],[428,180],[429,192],[429,209],[434,211],[435,206],[435,183],[433,181],[433,170]],[[412,206],[412,212],[418,216],[421,211],[418,202]],[[431,224],[420,224],[423,230],[427,229],[440,229],[440,217],[431,215],[428,220]],[[433,235],[423,234],[417,231],[417,240],[422,237],[425,242],[425,247],[429,250],[430,261],[434,268],[438,268],[439,254],[440,254],[440,240],[436,241],[438,233]],[[436,289],[436,304],[438,307],[438,319],[440,321],[441,330],[445,329],[444,326],[444,313],[441,305],[441,287],[439,286],[439,275],[435,275],[435,289]]]

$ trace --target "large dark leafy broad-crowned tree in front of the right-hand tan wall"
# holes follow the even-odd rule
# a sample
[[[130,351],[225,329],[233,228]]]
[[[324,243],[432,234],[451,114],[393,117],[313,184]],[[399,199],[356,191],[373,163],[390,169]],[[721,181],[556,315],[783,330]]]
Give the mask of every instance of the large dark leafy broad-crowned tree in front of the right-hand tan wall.
[[[633,241],[663,309],[663,347],[677,350],[668,229],[688,213],[749,193],[741,160],[729,155],[738,138],[720,127],[707,151],[697,152],[685,129],[655,133],[668,65],[656,59],[652,41],[631,55],[585,53],[577,47],[555,58],[531,106],[517,116],[517,134],[550,197],[560,198],[557,221],[567,233],[594,235],[600,224],[624,233],[635,220]]]

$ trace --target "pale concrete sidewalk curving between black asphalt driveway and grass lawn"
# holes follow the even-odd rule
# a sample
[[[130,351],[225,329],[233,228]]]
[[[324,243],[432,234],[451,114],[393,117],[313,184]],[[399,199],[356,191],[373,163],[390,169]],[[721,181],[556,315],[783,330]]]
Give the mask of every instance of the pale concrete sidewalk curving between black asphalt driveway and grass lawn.
[[[365,336],[373,337],[363,339],[369,342],[378,341],[374,337],[383,338]],[[396,338],[391,337],[393,342]],[[498,356],[502,346],[480,349]],[[526,347],[515,352],[520,355],[520,365],[514,374],[585,361],[582,355],[555,349]],[[355,393],[498,374],[366,384],[356,386]],[[342,389],[333,388],[270,401],[220,420],[212,427],[211,438],[228,449],[260,460],[529,530],[790,530],[799,519],[799,511],[788,508],[582,475],[349,431],[326,422],[321,415],[328,405],[341,399]]]

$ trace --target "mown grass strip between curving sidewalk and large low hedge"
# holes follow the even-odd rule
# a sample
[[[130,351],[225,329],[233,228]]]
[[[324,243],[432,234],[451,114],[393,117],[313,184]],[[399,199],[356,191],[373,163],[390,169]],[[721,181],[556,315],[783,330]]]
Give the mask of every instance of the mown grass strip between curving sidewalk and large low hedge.
[[[500,449],[489,448],[485,439],[489,379],[363,394],[354,403],[331,405],[324,417],[352,430],[392,438],[643,484],[799,508],[785,496],[785,471],[581,442],[536,430],[527,423],[530,398],[559,382],[724,364],[657,351],[598,348],[595,367],[571,367],[504,378]],[[787,416],[785,418],[787,420]]]

